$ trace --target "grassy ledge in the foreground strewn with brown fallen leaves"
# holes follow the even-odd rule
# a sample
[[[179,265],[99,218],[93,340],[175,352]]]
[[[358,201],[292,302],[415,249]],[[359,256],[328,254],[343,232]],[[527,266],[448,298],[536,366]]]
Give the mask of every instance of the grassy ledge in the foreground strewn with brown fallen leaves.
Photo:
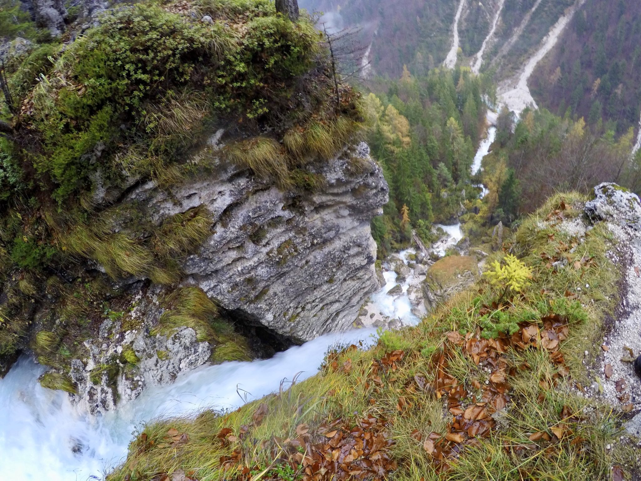
[[[488,260],[494,275],[418,326],[331,351],[313,378],[233,412],[147,425],[108,480],[633,478],[620,414],[582,392],[620,275],[583,202],[550,199]]]

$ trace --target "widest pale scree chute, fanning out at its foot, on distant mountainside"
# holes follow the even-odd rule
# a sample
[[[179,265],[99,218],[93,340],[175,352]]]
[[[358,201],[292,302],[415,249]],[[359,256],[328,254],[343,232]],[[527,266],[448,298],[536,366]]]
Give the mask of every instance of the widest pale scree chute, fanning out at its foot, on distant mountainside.
[[[540,62],[552,47],[556,45],[561,33],[565,30],[565,27],[574,16],[574,13],[584,3],[585,0],[576,0],[576,3],[567,10],[565,15],[562,15],[558,21],[556,21],[556,24],[554,24],[551,30],[543,38],[537,52],[531,56],[528,62],[524,65],[516,83],[514,83],[514,81],[508,81],[499,87],[499,99],[507,105],[512,112],[516,112],[516,114],[519,115],[520,112],[522,112],[528,105],[538,108],[534,97],[532,97],[532,94],[529,91],[528,79],[534,72],[538,62]]]

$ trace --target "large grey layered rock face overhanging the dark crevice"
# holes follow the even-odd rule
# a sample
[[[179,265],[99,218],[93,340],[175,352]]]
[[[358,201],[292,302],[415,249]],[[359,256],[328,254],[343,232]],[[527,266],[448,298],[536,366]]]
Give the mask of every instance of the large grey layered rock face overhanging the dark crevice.
[[[250,325],[306,341],[349,328],[379,288],[370,221],[388,199],[364,143],[308,170],[324,178],[317,192],[280,190],[221,164],[215,175],[181,185],[171,197],[147,183],[125,201],[158,222],[208,208],[212,235],[185,262],[185,282]]]

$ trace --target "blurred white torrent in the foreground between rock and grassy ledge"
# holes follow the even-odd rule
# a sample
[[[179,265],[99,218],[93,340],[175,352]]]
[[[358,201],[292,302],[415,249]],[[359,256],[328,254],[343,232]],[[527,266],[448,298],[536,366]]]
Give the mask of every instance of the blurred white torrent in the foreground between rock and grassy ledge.
[[[44,368],[22,357],[0,380],[0,480],[101,478],[122,462],[133,433],[146,421],[206,407],[235,409],[244,404],[237,387],[251,393],[247,400],[278,391],[281,380],[298,371],[303,371],[299,380],[314,375],[329,347],[367,344],[375,332],[327,334],[271,359],[201,367],[172,385],[149,387],[137,400],[97,418],[76,411],[64,392],[40,387]]]

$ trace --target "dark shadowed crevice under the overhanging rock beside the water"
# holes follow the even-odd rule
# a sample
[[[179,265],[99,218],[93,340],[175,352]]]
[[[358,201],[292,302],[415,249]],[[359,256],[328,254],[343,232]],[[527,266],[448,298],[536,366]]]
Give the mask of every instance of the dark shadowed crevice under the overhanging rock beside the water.
[[[299,346],[303,341],[280,334],[263,325],[257,316],[242,309],[219,308],[219,314],[234,326],[237,333],[249,342],[249,347],[262,359],[286,351],[292,346]]]

